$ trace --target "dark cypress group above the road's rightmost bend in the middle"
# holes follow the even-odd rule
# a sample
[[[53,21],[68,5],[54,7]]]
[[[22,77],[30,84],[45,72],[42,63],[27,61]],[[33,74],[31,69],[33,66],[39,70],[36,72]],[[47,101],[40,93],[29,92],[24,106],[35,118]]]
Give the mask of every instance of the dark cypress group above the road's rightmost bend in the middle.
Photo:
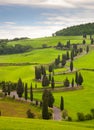
[[[75,73],[75,79],[72,78],[71,82],[69,81],[68,78],[65,79],[64,86],[65,87],[69,87],[69,86],[74,87],[75,83],[76,83],[77,86],[79,86],[79,85],[81,86],[82,83],[83,83],[83,76],[82,76],[82,74],[80,72],[78,73],[77,71]]]

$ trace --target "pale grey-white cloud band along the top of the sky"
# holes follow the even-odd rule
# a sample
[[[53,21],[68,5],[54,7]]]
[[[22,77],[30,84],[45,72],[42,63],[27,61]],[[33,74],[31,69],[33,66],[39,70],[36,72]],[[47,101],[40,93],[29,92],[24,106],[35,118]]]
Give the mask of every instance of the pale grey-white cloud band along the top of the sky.
[[[92,7],[94,6],[94,0],[0,0],[0,4],[19,4],[19,5],[35,5],[48,8],[57,7]]]

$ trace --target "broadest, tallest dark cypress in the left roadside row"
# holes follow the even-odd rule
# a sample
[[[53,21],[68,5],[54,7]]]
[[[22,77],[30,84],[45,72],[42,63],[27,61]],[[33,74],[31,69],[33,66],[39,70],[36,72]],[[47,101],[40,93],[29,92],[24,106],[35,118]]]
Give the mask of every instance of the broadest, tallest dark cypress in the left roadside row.
[[[21,78],[19,78],[18,83],[17,83],[17,94],[19,98],[22,97],[23,92],[24,92],[24,85]]]

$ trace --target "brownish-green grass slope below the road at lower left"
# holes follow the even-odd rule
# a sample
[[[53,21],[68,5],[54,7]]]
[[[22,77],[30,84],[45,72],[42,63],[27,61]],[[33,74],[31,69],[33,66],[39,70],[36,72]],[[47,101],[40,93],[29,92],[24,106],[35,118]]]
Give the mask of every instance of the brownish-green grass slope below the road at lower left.
[[[0,111],[2,116],[25,118],[27,117],[26,112],[28,109],[31,109],[35,114],[35,118],[41,117],[41,109],[30,103],[15,101],[9,98],[0,99]]]

